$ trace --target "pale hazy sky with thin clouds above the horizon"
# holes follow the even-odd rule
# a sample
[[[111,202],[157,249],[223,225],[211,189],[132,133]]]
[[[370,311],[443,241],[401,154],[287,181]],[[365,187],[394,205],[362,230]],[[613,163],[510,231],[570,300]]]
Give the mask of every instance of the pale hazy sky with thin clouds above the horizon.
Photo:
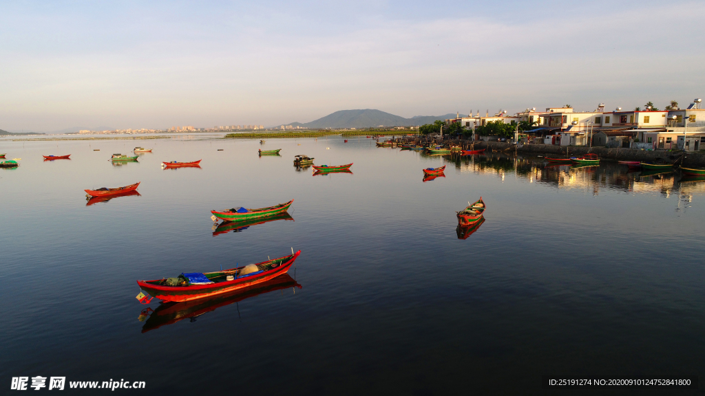
[[[0,129],[705,97],[705,1],[0,0]]]

